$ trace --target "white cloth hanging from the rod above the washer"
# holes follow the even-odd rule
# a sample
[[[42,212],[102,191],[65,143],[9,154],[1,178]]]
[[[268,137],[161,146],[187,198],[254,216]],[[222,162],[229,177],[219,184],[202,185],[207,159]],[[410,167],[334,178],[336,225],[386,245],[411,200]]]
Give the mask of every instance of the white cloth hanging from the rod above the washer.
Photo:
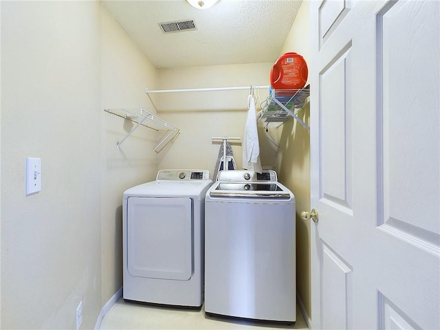
[[[243,168],[261,173],[259,132],[256,127],[255,100],[248,96],[248,118],[243,136]]]

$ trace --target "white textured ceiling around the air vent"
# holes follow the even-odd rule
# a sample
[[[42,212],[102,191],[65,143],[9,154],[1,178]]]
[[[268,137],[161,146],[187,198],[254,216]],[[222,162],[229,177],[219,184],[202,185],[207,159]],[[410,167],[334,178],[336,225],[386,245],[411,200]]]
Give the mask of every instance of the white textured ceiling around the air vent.
[[[274,62],[300,0],[220,0],[205,10],[186,0],[104,0],[156,67]],[[159,23],[193,20],[197,30],[164,34]]]

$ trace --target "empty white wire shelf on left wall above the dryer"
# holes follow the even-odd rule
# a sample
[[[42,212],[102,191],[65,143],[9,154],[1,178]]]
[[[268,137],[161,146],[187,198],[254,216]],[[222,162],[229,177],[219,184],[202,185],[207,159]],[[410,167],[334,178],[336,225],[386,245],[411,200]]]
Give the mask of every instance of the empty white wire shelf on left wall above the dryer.
[[[118,115],[121,118],[124,118],[126,120],[131,120],[132,122],[135,122],[135,126],[125,137],[116,144],[116,148],[119,149],[121,144],[124,143],[124,141],[129,138],[133,132],[138,129],[140,126],[147,127],[148,129],[154,129],[157,132],[164,132],[162,138],[157,142],[157,146],[153,149],[156,153],[159,153],[159,151],[162,150],[162,148],[170,142],[170,140],[173,140],[177,135],[179,135],[180,130],[177,129],[176,126],[173,126],[169,122],[166,122],[166,120],[163,120],[162,118],[157,117],[157,115],[154,115],[153,113],[150,113],[146,111],[145,109],[104,109],[104,111],[111,113],[113,115]]]

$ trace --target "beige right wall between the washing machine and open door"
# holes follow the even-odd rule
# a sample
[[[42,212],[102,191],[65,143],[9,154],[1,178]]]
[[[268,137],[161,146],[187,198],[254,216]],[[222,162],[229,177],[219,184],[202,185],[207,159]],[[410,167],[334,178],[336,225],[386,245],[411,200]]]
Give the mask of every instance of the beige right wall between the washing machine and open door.
[[[296,52],[310,67],[309,5],[309,1],[303,1],[281,54]],[[309,114],[307,106],[298,117],[310,124]],[[302,210],[310,210],[310,135],[301,124],[290,119],[279,129],[278,138],[278,179],[296,198],[296,289],[311,318],[310,223],[300,217]]]

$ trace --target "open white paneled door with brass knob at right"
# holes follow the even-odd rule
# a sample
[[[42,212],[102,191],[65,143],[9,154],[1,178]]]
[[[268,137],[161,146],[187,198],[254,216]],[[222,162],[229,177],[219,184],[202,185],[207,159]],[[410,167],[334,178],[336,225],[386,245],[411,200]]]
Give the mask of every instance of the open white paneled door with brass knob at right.
[[[439,8],[311,3],[314,329],[440,329]]]

